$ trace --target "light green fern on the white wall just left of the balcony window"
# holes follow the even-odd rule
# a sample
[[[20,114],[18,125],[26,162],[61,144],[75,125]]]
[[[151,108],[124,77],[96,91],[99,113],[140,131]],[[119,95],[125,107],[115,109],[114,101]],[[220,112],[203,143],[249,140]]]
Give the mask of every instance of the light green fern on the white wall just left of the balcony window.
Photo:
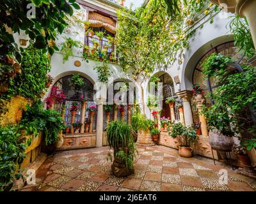
[[[68,37],[65,38],[65,41],[61,43],[61,50],[60,53],[63,55],[63,63],[68,61],[68,58],[74,56],[72,48],[74,47],[82,47],[81,43],[77,40],[72,40],[72,38]]]

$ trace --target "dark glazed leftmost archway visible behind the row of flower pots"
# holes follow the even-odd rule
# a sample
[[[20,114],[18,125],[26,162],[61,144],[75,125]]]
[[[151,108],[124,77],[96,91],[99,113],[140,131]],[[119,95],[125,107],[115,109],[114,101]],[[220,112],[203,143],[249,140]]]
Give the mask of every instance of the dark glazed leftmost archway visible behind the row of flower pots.
[[[65,77],[60,78],[53,86],[58,87],[61,89],[64,94],[66,95],[65,100],[63,101],[63,104],[54,104],[54,110],[61,113],[61,109],[65,108],[65,122],[67,124],[71,123],[71,112],[70,108],[72,106],[72,103],[77,102],[78,110],[76,112],[75,122],[81,121],[81,99],[80,96],[83,95],[87,99],[86,108],[90,105],[95,105],[95,102],[93,100],[94,91],[93,91],[93,84],[88,80],[87,78],[82,77],[79,75],[81,79],[83,79],[84,85],[81,87],[81,89],[76,89],[74,85],[72,85],[72,77],[74,75],[67,75]],[[86,111],[85,115],[86,120],[89,120],[90,114]],[[97,113],[93,117],[93,129],[96,129],[96,119],[97,119]],[[71,124],[70,124],[71,125]]]

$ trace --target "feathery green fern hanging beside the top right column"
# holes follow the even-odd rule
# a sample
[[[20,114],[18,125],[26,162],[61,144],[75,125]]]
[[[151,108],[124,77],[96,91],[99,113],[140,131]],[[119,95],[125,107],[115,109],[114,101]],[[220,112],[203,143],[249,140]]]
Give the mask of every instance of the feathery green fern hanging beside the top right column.
[[[229,24],[230,31],[234,36],[236,47],[242,50],[246,57],[253,57],[255,55],[255,47],[248,21],[238,15],[232,15],[230,18],[232,19]]]

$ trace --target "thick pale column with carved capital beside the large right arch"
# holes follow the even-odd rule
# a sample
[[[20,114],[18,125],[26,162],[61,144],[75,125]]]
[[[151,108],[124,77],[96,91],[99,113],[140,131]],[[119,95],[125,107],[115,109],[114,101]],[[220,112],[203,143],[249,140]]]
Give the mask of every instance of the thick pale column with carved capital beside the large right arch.
[[[183,102],[184,124],[186,124],[186,126],[191,126],[193,124],[193,115],[190,105],[190,99],[192,97],[191,91],[180,91],[177,92],[176,95],[179,96],[179,98],[181,98]]]

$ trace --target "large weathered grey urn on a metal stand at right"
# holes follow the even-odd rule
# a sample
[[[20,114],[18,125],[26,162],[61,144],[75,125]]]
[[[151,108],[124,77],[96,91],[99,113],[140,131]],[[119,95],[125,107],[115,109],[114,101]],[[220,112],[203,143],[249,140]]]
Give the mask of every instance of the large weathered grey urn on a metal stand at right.
[[[234,145],[233,137],[225,136],[216,130],[210,131],[209,143],[214,150],[228,152]]]

